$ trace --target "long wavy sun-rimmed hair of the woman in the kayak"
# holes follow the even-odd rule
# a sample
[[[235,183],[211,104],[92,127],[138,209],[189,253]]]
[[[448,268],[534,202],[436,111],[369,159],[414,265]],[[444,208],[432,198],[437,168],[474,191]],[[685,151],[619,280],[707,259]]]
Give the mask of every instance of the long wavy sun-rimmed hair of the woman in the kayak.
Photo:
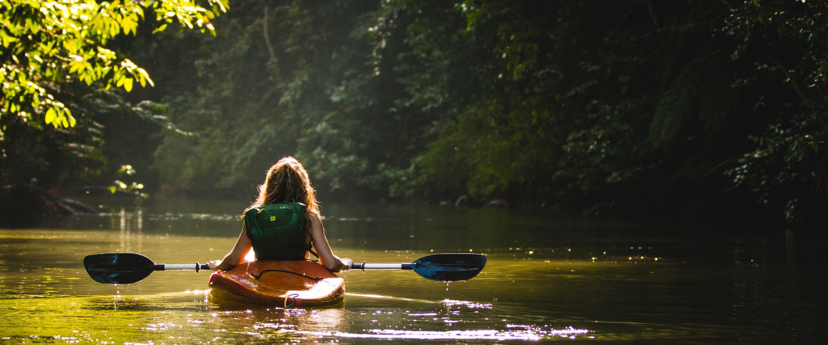
[[[258,186],[258,190],[258,198],[245,212],[257,206],[279,203],[301,203],[305,204],[307,213],[319,212],[316,190],[310,186],[308,173],[291,156],[282,157],[267,170],[264,183]]]

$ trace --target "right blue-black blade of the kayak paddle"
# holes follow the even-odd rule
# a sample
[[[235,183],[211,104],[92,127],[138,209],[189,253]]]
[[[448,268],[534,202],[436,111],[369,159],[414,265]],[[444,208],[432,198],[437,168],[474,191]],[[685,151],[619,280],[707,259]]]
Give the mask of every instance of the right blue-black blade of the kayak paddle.
[[[483,254],[432,254],[412,262],[412,270],[431,280],[459,281],[477,276],[486,266]]]

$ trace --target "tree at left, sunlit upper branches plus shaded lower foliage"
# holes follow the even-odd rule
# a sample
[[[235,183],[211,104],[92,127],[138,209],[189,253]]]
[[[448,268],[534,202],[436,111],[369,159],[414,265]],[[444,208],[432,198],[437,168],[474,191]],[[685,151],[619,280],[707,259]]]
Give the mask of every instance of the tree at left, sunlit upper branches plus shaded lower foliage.
[[[0,181],[48,175],[54,183],[72,173],[94,175],[86,163],[103,160],[94,117],[150,108],[125,103],[113,92],[153,83],[145,69],[110,49],[112,41],[136,34],[147,15],[155,31],[178,22],[214,33],[211,20],[226,10],[227,0],[2,0]]]

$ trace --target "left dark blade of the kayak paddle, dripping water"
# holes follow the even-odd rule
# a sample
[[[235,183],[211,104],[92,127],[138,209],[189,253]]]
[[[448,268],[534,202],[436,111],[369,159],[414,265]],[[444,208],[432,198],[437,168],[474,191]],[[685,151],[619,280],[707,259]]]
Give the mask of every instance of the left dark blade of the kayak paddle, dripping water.
[[[136,253],[89,255],[84,266],[92,279],[103,284],[132,284],[155,271],[152,260]]]

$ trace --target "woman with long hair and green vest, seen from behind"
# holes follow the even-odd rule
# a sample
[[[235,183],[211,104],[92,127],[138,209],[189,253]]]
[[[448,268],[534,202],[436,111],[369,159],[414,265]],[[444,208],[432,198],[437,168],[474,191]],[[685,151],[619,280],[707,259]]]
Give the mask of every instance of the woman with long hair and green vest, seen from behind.
[[[316,191],[305,167],[287,156],[267,170],[256,202],[244,210],[242,233],[223,260],[207,262],[214,271],[228,271],[244,262],[253,248],[256,260],[306,260],[315,248],[322,266],[347,271],[354,261],[335,256],[330,249]]]

